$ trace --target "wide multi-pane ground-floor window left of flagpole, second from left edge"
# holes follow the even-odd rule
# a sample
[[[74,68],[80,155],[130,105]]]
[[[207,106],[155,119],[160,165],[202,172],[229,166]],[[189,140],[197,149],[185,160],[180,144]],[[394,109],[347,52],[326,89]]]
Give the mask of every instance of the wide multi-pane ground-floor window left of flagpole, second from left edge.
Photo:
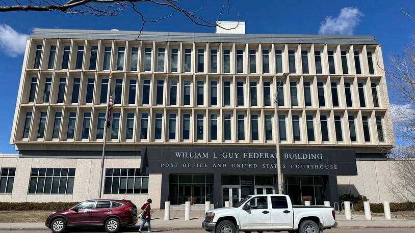
[[[32,168],[29,194],[72,194],[74,179],[75,168]]]

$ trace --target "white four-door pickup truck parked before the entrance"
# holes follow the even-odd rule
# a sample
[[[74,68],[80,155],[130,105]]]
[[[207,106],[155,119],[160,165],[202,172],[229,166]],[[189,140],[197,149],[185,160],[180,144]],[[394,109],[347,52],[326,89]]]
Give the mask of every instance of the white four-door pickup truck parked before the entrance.
[[[206,212],[202,227],[209,232],[322,232],[336,227],[334,210],[324,206],[293,206],[287,195],[250,195],[232,207]]]

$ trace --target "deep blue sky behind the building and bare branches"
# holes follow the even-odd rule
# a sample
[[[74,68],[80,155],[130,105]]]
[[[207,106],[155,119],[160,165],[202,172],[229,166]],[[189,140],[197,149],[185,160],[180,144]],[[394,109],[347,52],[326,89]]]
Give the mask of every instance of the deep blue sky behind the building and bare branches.
[[[12,1],[6,1],[12,2]],[[198,12],[198,16],[214,22],[220,9],[227,1],[206,1],[206,6]],[[204,1],[184,0],[180,6],[196,10]],[[2,5],[3,6],[3,5]],[[200,32],[214,33],[214,28],[195,25],[182,14],[170,9],[149,4],[138,4],[148,20],[174,15],[156,23],[147,23],[144,31],[162,32]],[[352,7],[353,11],[344,12],[339,18],[341,9]],[[348,0],[348,1],[266,1],[266,0],[234,0],[231,2],[229,15],[224,12],[221,20],[238,20],[246,22],[246,33],[257,34],[318,34],[322,22],[329,20],[326,34],[372,35],[382,45],[384,62],[392,53],[399,53],[409,42],[409,35],[414,32],[415,20],[401,13],[400,8],[415,15],[413,1],[389,0]],[[357,10],[357,11],[356,11]],[[0,13],[0,93],[2,93],[2,111],[0,114],[0,153],[15,154],[14,146],[10,145],[10,132],[16,106],[17,89],[20,80],[22,54],[18,45],[10,49],[5,42],[17,39],[2,38],[2,30],[30,34],[34,28],[66,28],[90,30],[136,31],[141,28],[141,18],[132,11],[125,11],[117,17],[97,17],[93,15],[67,15],[58,12],[13,12]],[[342,21],[343,20],[343,21]],[[5,26],[8,25],[10,27]],[[339,25],[340,24],[340,25]],[[4,32],[4,31],[3,31]],[[9,32],[10,33],[10,32]],[[11,36],[15,34],[10,34]],[[21,38],[21,37],[20,37]],[[21,43],[20,43],[21,44]],[[21,50],[21,49],[20,49]],[[15,57],[13,57],[13,56]],[[391,102],[393,90],[390,90]],[[399,138],[397,139],[399,142]]]

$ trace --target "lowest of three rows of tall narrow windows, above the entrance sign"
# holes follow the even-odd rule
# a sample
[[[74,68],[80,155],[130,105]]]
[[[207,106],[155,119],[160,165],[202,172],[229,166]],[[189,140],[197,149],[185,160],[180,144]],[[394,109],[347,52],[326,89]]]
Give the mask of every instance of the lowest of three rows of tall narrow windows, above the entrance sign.
[[[40,113],[40,120],[39,120],[39,128],[37,133],[37,138],[44,138],[45,135],[45,125],[46,125],[46,115],[47,112],[43,111]],[[55,121],[53,125],[53,139],[58,139],[61,129],[61,117],[62,112],[55,112]],[[121,113],[114,111],[112,124],[111,124],[111,132],[110,138],[111,139],[119,139],[120,138],[120,118]],[[167,129],[167,139],[168,140],[176,140],[179,136],[177,134],[178,131],[178,123],[177,121],[181,121],[180,127],[180,140],[190,140],[191,132],[194,132],[194,136],[196,140],[204,140],[207,130],[205,129],[205,114],[203,113],[196,113],[194,124],[191,124],[191,114],[190,113],[183,113],[180,117],[176,113],[168,113],[166,116],[166,123],[163,122],[163,113],[155,113],[153,114],[152,119],[152,127],[149,126],[149,113],[143,112],[140,115],[139,123],[139,138],[141,140],[148,140],[150,135],[150,128],[153,129],[152,138],[153,140],[162,140],[163,129]],[[371,141],[370,136],[370,124],[369,124],[368,115],[361,115],[361,122],[362,122],[362,131],[364,133],[364,140],[365,142]],[[272,141],[273,140],[273,124],[272,124],[273,115],[272,114],[264,114],[263,119],[261,119],[261,114],[250,114],[249,120],[247,119],[246,114],[236,114],[236,129],[232,125],[232,114],[224,113],[222,116],[222,124],[221,129],[218,129],[220,126],[218,124],[219,118],[218,114],[210,114],[209,115],[209,124],[207,127],[209,128],[209,140],[218,140],[218,133],[222,133],[223,139],[231,140],[232,139],[232,130],[236,130],[236,139],[238,141],[258,141],[260,140],[260,132],[264,132],[264,141]],[[321,138],[323,142],[329,141],[329,121],[330,115],[321,113],[319,115],[320,119],[320,132]],[[347,119],[343,119],[341,114],[334,114],[334,127],[335,127],[335,140],[337,142],[343,142],[344,140],[344,131],[342,130],[342,126],[348,125],[349,127],[349,135],[350,141],[356,142],[357,135],[356,135],[356,116],[349,115]],[[23,129],[23,136],[22,138],[29,138],[30,134],[30,124],[32,120],[32,112],[28,111],[26,113],[26,118],[24,122],[24,129]],[[122,135],[123,139],[125,140],[133,140],[135,135],[136,127],[136,115],[133,112],[126,112],[126,118],[124,119],[124,135]],[[301,141],[301,124],[306,125],[306,135],[307,141],[312,142],[316,141],[316,130],[317,127],[317,116],[315,114],[307,114],[305,115],[305,119],[301,120],[301,115],[292,113],[291,114],[291,132],[294,141]],[[332,120],[332,119],[331,119]],[[383,142],[383,129],[382,129],[382,116],[376,115],[376,131],[377,137],[379,142]],[[248,125],[246,121],[250,121]],[[280,141],[287,141],[287,122],[288,115],[287,114],[278,114],[278,129],[279,129],[279,140]],[[343,121],[347,121],[343,122]],[[66,129],[66,138],[73,139],[75,135],[75,122],[76,122],[76,112],[69,112],[69,121]],[[343,123],[342,123],[343,122]],[[167,124],[164,127],[164,124]],[[192,126],[193,125],[193,126]],[[91,127],[91,112],[84,112],[83,119],[82,119],[82,133],[81,139],[89,139],[90,135],[90,127]],[[96,121],[96,130],[94,138],[96,139],[103,139],[103,130],[105,127],[105,112],[98,112],[97,114],[97,121]],[[193,128],[192,128],[193,127]],[[247,129],[250,127],[250,129]],[[250,134],[248,136],[248,134]],[[249,138],[246,138],[249,137]]]

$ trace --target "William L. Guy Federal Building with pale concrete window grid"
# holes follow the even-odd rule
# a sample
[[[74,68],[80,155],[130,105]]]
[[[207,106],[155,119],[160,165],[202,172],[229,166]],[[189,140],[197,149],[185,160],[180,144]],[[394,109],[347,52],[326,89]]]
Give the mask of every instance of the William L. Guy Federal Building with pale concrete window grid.
[[[104,198],[217,208],[278,193],[279,143],[282,190],[295,204],[333,205],[344,193],[401,201],[379,42],[245,34],[240,24],[216,33],[35,29],[10,139],[18,155],[0,157],[0,200],[98,196],[110,85]]]

